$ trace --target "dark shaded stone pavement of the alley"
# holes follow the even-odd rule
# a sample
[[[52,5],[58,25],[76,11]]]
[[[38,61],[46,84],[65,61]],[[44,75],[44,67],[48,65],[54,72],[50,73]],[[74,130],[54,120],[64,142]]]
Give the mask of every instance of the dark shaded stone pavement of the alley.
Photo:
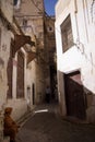
[[[16,142],[95,142],[95,126],[61,119],[54,106],[40,106],[49,111],[36,113],[21,128]]]

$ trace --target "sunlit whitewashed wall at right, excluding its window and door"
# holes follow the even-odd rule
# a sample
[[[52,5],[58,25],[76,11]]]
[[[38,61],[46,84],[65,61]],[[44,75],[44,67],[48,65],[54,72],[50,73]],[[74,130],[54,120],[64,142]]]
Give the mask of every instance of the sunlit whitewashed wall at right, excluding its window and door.
[[[63,54],[60,25],[69,14],[74,46]],[[70,73],[80,70],[83,86],[88,91],[87,119],[93,122],[95,121],[95,2],[93,0],[59,0],[56,4],[55,25],[58,76],[60,72]],[[59,81],[59,94],[61,87],[63,88]],[[66,110],[63,111],[66,115]]]

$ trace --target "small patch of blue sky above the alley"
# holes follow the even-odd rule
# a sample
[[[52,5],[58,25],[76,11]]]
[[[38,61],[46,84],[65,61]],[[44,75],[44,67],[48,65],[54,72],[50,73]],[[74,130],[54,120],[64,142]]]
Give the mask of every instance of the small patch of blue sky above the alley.
[[[55,4],[58,0],[44,0],[45,11],[48,15],[55,15]]]

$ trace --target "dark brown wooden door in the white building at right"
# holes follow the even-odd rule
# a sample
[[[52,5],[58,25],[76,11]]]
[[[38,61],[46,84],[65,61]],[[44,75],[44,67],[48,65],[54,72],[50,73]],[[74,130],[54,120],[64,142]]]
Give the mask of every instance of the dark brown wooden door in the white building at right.
[[[79,72],[64,75],[67,115],[85,119],[85,97]]]

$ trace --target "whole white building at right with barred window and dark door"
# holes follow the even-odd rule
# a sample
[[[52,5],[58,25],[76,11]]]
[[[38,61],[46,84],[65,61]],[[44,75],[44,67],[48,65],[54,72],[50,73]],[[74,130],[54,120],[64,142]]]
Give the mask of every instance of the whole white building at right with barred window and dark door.
[[[62,115],[95,121],[95,1],[56,4],[58,90]]]

